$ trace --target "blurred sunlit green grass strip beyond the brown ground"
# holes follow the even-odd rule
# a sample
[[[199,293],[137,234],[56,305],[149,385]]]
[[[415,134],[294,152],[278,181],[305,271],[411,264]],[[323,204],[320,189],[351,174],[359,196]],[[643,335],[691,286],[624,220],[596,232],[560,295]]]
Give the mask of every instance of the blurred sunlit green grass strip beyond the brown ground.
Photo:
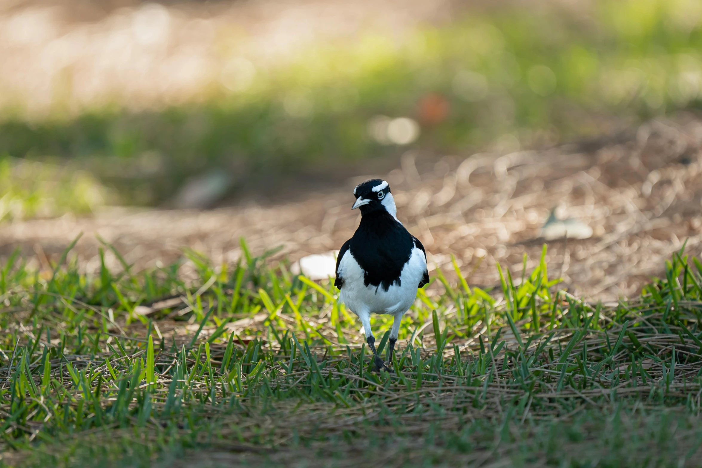
[[[418,121],[416,144],[439,152],[511,151],[697,105],[698,2],[603,0],[583,11],[470,13],[401,37],[315,44],[279,65],[223,55],[197,99],[133,112],[115,98],[31,125],[17,111],[0,126],[0,150],[86,161],[125,201],[149,204],[212,167],[237,187],[404,151],[393,141],[411,138],[369,132],[377,116]]]

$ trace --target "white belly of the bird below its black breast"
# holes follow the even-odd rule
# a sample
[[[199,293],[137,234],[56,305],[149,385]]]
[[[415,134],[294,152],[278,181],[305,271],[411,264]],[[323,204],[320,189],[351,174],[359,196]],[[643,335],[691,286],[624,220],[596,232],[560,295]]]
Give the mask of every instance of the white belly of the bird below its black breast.
[[[339,299],[358,316],[373,314],[404,314],[417,297],[417,286],[427,268],[427,260],[419,248],[413,248],[409,262],[400,274],[400,286],[365,286],[363,270],[347,250],[339,264],[343,286]]]

